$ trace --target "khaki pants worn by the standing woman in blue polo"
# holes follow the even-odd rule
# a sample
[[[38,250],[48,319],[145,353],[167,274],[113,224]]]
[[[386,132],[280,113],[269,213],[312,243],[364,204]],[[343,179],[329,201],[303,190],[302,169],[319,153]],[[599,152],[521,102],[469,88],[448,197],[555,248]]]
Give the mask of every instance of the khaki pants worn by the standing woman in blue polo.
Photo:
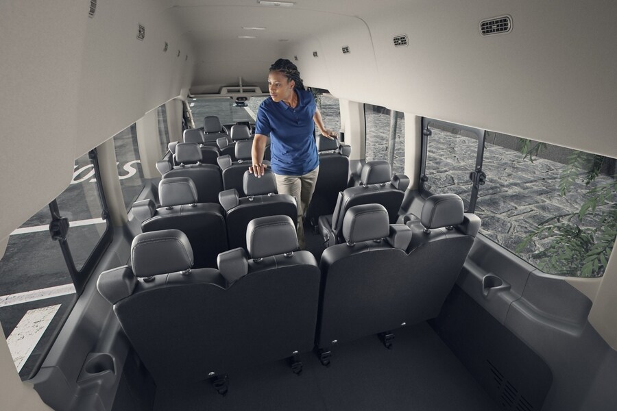
[[[298,245],[300,249],[304,249],[304,221],[302,217],[304,212],[309,208],[309,203],[315,191],[315,183],[319,174],[319,166],[317,169],[310,171],[304,175],[278,175],[276,177],[276,190],[279,194],[289,194],[295,197],[298,203],[298,221],[296,226],[296,234],[298,234]]]

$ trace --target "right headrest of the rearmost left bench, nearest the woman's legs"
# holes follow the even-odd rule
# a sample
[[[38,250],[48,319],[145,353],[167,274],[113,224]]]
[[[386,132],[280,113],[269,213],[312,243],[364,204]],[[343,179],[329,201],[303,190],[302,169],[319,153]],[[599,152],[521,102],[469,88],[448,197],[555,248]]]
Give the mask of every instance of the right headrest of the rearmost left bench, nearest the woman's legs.
[[[251,258],[291,253],[298,249],[295,224],[289,216],[268,216],[251,220],[246,227],[246,248]]]

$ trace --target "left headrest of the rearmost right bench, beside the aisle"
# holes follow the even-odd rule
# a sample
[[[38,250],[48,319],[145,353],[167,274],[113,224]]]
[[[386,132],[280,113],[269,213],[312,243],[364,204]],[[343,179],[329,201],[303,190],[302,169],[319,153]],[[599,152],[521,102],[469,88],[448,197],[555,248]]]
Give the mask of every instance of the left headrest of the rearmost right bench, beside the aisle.
[[[390,232],[388,212],[381,204],[351,207],[343,217],[343,238],[347,242],[378,240]]]

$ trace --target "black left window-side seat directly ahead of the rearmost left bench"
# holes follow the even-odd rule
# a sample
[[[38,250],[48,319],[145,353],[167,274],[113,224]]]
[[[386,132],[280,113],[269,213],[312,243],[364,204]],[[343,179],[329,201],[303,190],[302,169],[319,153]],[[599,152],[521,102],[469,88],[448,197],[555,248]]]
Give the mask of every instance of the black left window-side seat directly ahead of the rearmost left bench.
[[[219,253],[229,249],[223,208],[218,203],[197,203],[197,189],[189,177],[161,179],[158,194],[158,209],[154,209],[152,200],[133,206],[142,231],[179,229],[191,242],[195,267],[216,267]]]

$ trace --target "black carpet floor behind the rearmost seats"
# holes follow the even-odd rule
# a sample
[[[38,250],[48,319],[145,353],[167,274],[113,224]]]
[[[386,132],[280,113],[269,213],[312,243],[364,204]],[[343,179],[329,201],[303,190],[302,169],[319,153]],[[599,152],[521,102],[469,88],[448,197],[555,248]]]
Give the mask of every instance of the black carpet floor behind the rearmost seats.
[[[502,410],[426,323],[398,330],[390,350],[369,336],[335,347],[328,367],[301,360],[301,375],[287,360],[230,372],[225,397],[210,382],[159,386],[154,410]]]

